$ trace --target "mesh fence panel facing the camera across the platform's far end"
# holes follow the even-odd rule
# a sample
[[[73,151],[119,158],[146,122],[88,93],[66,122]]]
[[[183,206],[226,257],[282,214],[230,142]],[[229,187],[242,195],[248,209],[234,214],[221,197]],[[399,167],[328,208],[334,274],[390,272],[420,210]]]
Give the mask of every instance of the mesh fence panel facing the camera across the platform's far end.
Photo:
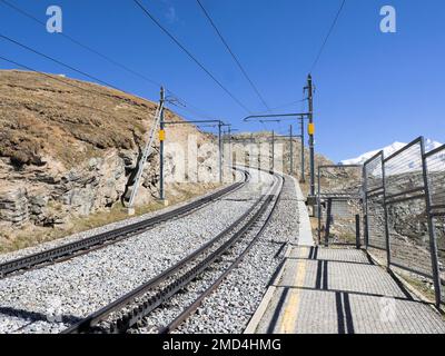
[[[318,168],[319,243],[356,244],[356,215],[362,215],[360,192],[362,166]]]

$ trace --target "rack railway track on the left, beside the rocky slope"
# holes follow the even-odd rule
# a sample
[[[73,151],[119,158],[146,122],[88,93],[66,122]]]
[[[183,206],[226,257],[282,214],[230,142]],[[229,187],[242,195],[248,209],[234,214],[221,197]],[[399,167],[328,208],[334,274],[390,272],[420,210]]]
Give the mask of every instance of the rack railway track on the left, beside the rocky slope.
[[[89,251],[103,248],[111,244],[116,244],[137,234],[141,234],[159,224],[185,217],[198,209],[204,208],[208,204],[240,189],[249,180],[249,174],[245,170],[243,174],[244,181],[230,185],[216,191],[215,194],[208,195],[170,211],[78,241],[69,243],[44,251],[2,263],[0,264],[0,278],[4,278],[9,275],[22,273],[29,269],[41,268],[48,265],[65,261],[77,256],[88,254]]]

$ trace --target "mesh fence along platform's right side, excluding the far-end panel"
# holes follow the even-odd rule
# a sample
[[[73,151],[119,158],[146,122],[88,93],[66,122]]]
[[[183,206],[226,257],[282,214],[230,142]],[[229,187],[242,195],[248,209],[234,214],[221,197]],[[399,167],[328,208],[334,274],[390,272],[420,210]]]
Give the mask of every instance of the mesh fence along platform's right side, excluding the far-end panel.
[[[437,304],[444,266],[444,166],[445,148],[425,155],[421,137],[387,158],[378,152],[363,168],[366,247],[386,256],[388,267],[431,279]]]

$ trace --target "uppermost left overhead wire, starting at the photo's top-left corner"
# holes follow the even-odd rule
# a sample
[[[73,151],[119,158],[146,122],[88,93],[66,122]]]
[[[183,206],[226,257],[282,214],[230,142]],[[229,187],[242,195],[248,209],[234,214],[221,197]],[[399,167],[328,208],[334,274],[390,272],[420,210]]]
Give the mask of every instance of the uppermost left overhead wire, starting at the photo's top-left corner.
[[[8,6],[9,8],[11,8],[12,10],[14,10],[14,11],[21,13],[22,16],[24,16],[24,17],[27,17],[27,18],[29,18],[29,19],[31,19],[32,21],[34,21],[34,22],[37,22],[37,23],[43,26],[43,27],[47,26],[43,21],[39,20],[38,18],[36,18],[34,16],[32,16],[31,13],[24,11],[23,9],[20,9],[18,6],[16,6],[16,4],[13,4],[13,3],[10,3],[9,1],[6,1],[6,0],[0,0],[0,1],[1,1],[3,4]],[[140,79],[142,79],[142,80],[145,80],[145,81],[151,83],[152,86],[156,86],[157,88],[162,87],[162,85],[159,83],[158,81],[148,78],[147,76],[145,76],[145,75],[142,75],[142,73],[140,73],[140,72],[138,72],[138,71],[136,71],[136,70],[134,70],[134,69],[131,69],[131,68],[129,68],[129,67],[127,67],[127,66],[125,66],[125,65],[122,65],[122,63],[116,61],[116,60],[113,60],[112,58],[110,58],[110,57],[108,57],[108,56],[106,56],[106,55],[99,52],[98,50],[96,50],[96,49],[93,49],[93,48],[91,48],[91,47],[89,47],[89,46],[87,46],[87,44],[81,43],[79,40],[75,39],[73,37],[71,37],[71,36],[69,36],[69,34],[67,34],[67,33],[65,33],[65,32],[61,32],[61,33],[58,33],[58,34],[59,34],[59,36],[62,36],[62,37],[66,38],[66,39],[68,39],[68,40],[71,41],[72,43],[75,43],[75,44],[77,44],[77,46],[83,48],[85,50],[87,50],[87,51],[89,51],[89,52],[91,52],[91,53],[93,53],[93,55],[96,55],[96,56],[98,56],[98,57],[105,59],[106,61],[110,62],[111,65],[123,69],[125,71],[127,71],[127,72],[134,75],[135,77],[140,78]],[[185,102],[189,108],[194,109],[194,110],[196,111],[195,113],[204,115],[204,116],[207,116],[207,117],[211,117],[211,115],[208,115],[208,113],[205,112],[204,110],[201,110],[201,109],[197,108],[196,106],[191,105],[190,102],[186,101],[184,98],[180,98],[180,97],[179,97],[177,93],[175,93],[172,90],[166,88],[166,91],[168,91],[170,95],[172,95],[172,96],[177,97],[178,99],[180,99],[180,100],[181,100],[182,102]]]

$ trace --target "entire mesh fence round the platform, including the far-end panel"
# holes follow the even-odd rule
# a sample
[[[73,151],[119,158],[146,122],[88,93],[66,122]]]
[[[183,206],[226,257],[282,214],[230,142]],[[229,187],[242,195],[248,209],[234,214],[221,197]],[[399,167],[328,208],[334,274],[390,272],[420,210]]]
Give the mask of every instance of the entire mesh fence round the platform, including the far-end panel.
[[[431,281],[445,303],[445,145],[425,152],[419,137],[363,166],[320,166],[317,204],[319,244],[360,245],[363,216],[368,251]]]

